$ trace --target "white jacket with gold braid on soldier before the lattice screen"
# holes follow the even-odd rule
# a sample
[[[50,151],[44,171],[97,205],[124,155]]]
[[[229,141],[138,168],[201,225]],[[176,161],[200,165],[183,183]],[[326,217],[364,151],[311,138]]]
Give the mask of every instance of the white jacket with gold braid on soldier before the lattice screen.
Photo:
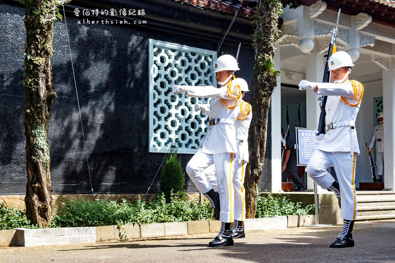
[[[207,129],[202,144],[202,152],[218,154],[224,152],[237,152],[235,121],[240,112],[238,99],[234,99],[241,93],[238,86],[188,86],[186,96],[199,98],[212,98],[210,101],[209,119],[226,119],[226,122],[218,123]]]

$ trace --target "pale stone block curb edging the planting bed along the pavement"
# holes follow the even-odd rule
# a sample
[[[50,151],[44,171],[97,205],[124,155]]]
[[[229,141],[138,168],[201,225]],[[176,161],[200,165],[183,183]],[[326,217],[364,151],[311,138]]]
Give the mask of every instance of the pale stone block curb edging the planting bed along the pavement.
[[[296,223],[301,221],[301,219],[294,217],[287,219],[285,216],[246,219],[244,228],[246,231],[285,229],[288,225],[300,225]],[[305,221],[306,219],[303,219],[303,222]],[[219,221],[210,220],[143,225],[104,225],[96,227],[16,228],[0,231],[0,246],[65,245],[131,238],[217,233],[220,227],[221,223]]]

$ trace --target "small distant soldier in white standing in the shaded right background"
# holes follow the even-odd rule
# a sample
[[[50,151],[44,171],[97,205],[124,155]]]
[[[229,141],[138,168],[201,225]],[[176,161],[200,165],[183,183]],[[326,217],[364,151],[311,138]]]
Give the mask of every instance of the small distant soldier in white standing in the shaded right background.
[[[376,143],[376,173],[379,178],[377,182],[383,182],[383,165],[384,165],[384,113],[377,115],[379,125],[374,126],[372,140],[369,150],[372,151],[374,143]]]

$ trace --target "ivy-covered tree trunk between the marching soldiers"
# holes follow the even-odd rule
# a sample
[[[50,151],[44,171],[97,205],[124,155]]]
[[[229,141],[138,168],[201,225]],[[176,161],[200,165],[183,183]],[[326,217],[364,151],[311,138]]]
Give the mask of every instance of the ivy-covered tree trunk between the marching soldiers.
[[[252,121],[249,129],[249,149],[252,154],[247,165],[244,187],[246,189],[246,217],[254,218],[258,196],[258,184],[263,171],[266,154],[268,113],[278,71],[274,69],[273,57],[278,39],[278,14],[280,0],[260,0],[255,19],[253,46],[255,50],[252,78]],[[279,133],[280,131],[278,131]]]

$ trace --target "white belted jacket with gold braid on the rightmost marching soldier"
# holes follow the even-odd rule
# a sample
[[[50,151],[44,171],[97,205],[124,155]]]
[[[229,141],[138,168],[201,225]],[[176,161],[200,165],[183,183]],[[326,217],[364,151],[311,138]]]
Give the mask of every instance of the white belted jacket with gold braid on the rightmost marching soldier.
[[[330,123],[351,123],[354,125],[354,129],[351,129],[350,126],[342,126],[328,130],[317,149],[359,154],[355,121],[363,96],[362,84],[355,80],[349,80],[341,84],[317,83],[317,87],[318,91],[314,91],[316,95],[328,96],[325,107],[325,125]]]

